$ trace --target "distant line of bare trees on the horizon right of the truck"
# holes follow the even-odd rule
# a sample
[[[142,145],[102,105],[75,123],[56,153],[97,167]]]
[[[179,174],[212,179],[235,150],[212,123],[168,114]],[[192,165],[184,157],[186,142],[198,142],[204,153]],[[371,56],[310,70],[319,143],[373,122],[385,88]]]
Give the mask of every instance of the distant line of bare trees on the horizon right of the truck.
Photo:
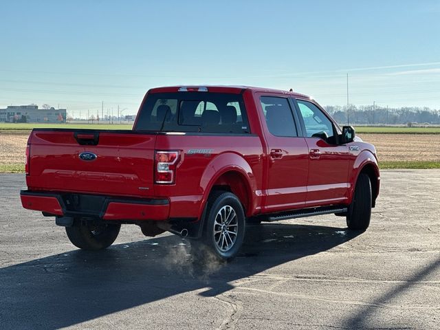
[[[347,123],[347,106],[325,107],[339,123]],[[349,106],[350,124],[440,124],[440,110],[428,107],[386,108],[373,105]]]

